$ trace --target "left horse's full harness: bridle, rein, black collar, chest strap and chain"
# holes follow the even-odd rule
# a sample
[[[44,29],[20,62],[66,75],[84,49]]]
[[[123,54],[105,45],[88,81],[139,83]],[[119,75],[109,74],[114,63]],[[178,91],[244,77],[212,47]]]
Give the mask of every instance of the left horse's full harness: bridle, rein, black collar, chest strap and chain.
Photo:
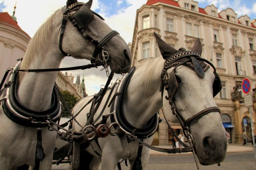
[[[71,12],[74,12],[74,11],[75,11],[75,14],[72,15]],[[84,69],[90,69],[91,67],[97,67],[102,65],[106,70],[107,76],[109,77],[110,74],[109,74],[108,65],[107,65],[109,54],[103,50],[104,49],[103,45],[105,45],[107,41],[110,40],[112,37],[114,37],[118,32],[111,31],[106,37],[104,37],[100,41],[95,40],[90,35],[87,35],[87,33],[85,32],[85,29],[93,20],[94,14],[99,16],[99,18],[103,20],[103,18],[100,15],[91,11],[90,7],[85,3],[77,2],[69,5],[67,7],[67,10],[63,13],[62,24],[60,27],[60,39],[59,39],[59,48],[61,53],[65,56],[70,56],[69,54],[65,53],[62,49],[63,35],[65,32],[67,20],[69,19],[69,21],[73,23],[74,27],[77,28],[77,30],[82,34],[82,36],[85,39],[91,41],[95,45],[95,49],[91,57],[91,64],[76,66],[76,67],[59,68],[59,69],[20,70],[19,69],[19,65],[21,62],[20,60],[20,62],[15,66],[15,68],[8,67],[5,70],[4,78],[0,84],[0,95],[4,94],[3,95],[4,97],[0,99],[0,102],[3,103],[3,106],[2,106],[3,111],[5,115],[10,118],[10,120],[23,126],[36,128],[37,145],[36,145],[35,169],[39,169],[40,161],[42,162],[42,160],[45,157],[44,149],[42,147],[42,129],[41,128],[49,126],[53,130],[57,131],[58,135],[63,136],[63,133],[60,133],[59,129],[56,129],[53,126],[53,125],[56,125],[58,128],[63,129],[61,126],[56,124],[56,122],[59,120],[61,116],[61,106],[58,98],[57,86],[54,86],[53,88],[51,107],[47,109],[47,111],[35,112],[35,111],[31,111],[30,109],[27,109],[25,106],[22,106],[22,104],[19,102],[16,96],[17,86],[15,85],[17,83],[18,72],[19,71],[49,72],[49,71],[64,71],[64,70],[78,70],[78,69],[84,70]],[[8,79],[9,81],[5,83],[5,80],[8,77],[8,74],[10,71],[11,73],[9,75],[9,79]],[[113,75],[114,73],[111,73],[111,79],[113,78]],[[4,89],[2,89],[3,86],[4,86]],[[108,87],[108,84],[106,84],[106,86]],[[104,96],[104,94],[102,95]],[[73,141],[74,139],[77,139],[77,138],[82,138],[83,141],[92,140],[96,136],[95,133],[101,132],[102,129],[106,129],[106,127],[103,126],[101,127],[101,129],[98,129],[98,130],[94,129],[94,131],[91,131],[89,127],[85,127],[85,129],[83,129],[82,131],[82,134],[81,133],[76,134],[75,132],[70,132],[70,130],[66,130],[66,132],[68,132],[67,133],[68,135],[65,134],[65,139],[67,141]]]

